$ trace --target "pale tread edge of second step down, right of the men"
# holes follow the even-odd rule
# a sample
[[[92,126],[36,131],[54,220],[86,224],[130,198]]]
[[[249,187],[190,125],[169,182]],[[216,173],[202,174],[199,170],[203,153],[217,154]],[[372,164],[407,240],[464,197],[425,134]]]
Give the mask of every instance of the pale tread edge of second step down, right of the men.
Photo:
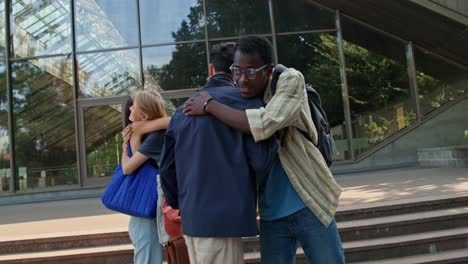
[[[392,216],[372,217],[359,220],[337,222],[340,232],[348,232],[354,229],[371,229],[379,226],[402,226],[414,223],[427,223],[431,221],[453,220],[468,217],[467,207],[455,207],[438,209]]]

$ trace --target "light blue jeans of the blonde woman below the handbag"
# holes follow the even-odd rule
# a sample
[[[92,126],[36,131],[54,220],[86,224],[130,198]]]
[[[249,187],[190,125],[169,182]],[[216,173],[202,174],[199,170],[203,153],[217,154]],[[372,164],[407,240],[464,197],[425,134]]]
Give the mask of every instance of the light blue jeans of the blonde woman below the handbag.
[[[130,217],[128,233],[132,239],[135,264],[162,263],[162,246],[158,239],[156,219]]]

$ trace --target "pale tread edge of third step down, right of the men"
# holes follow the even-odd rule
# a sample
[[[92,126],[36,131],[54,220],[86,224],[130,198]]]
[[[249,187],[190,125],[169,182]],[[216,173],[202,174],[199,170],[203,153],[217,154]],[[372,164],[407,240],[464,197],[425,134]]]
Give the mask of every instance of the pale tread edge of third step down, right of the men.
[[[343,249],[345,250],[345,252],[356,252],[397,246],[410,246],[425,242],[435,242],[462,237],[468,237],[468,227],[452,228],[408,235],[399,235],[385,238],[343,242]]]

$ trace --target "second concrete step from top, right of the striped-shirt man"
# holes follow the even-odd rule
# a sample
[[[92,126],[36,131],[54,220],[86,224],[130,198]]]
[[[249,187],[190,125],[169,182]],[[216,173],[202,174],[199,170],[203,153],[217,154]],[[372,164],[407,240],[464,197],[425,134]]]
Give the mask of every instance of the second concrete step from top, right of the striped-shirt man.
[[[338,222],[343,242],[466,227],[468,206]]]

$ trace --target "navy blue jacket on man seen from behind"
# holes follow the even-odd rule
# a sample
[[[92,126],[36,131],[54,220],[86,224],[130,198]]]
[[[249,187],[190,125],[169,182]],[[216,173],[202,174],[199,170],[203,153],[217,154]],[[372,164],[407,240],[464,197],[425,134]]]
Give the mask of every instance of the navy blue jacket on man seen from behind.
[[[237,109],[263,106],[259,98],[241,97],[228,76],[215,75],[203,90]],[[186,117],[177,109],[164,138],[160,179],[167,203],[180,208],[184,234],[255,236],[255,177],[269,172],[276,152],[274,139],[255,143],[211,115]]]

